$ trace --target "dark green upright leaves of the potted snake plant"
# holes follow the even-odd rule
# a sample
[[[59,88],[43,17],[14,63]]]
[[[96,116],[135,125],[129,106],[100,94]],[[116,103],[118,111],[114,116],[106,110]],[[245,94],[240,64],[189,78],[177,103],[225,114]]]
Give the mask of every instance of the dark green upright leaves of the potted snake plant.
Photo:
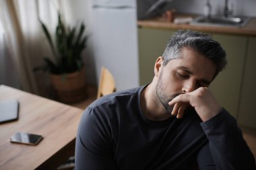
[[[86,26],[82,23],[78,30],[76,27],[66,29],[61,19],[61,13],[58,12],[55,44],[53,44],[46,26],[42,22],[40,23],[56,60],[55,63],[49,58],[44,58],[45,65],[41,69],[54,74],[65,74],[80,70],[84,65],[81,53],[86,48],[87,36],[84,36]]]

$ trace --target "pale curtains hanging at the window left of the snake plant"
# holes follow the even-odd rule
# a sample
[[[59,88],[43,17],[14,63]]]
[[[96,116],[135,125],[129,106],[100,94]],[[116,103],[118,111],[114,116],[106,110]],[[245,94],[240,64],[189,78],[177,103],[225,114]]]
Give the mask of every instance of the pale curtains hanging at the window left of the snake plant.
[[[0,84],[51,97],[48,76],[33,69],[52,55],[38,19],[54,33],[57,11],[60,0],[0,0]]]

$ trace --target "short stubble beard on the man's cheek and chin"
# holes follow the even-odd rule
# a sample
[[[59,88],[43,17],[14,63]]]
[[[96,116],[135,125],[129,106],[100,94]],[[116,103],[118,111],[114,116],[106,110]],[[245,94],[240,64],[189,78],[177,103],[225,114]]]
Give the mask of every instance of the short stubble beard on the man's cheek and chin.
[[[162,103],[162,105],[164,106],[164,108],[169,114],[172,113],[173,107],[168,105],[168,103],[172,101],[174,97],[177,97],[180,94],[181,93],[174,93],[172,95],[167,95],[165,87],[162,82],[162,71],[161,71],[159,75],[158,83],[156,85],[156,95],[158,96],[158,99],[160,100],[160,102]]]

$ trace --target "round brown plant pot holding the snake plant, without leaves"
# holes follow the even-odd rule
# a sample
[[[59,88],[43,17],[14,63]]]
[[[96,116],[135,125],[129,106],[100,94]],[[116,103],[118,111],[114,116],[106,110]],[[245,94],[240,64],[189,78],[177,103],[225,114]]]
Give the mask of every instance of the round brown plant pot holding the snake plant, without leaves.
[[[63,103],[77,103],[86,98],[85,69],[66,75],[50,75],[58,100]]]

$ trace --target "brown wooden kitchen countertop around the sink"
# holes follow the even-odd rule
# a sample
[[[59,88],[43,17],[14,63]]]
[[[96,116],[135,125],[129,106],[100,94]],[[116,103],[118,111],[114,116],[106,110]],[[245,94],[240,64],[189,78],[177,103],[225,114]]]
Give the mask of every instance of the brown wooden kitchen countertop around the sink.
[[[177,17],[193,17],[195,15],[177,15]],[[256,17],[251,17],[247,25],[243,28],[233,28],[233,27],[217,27],[217,26],[195,26],[190,24],[174,24],[171,22],[167,22],[165,17],[154,17],[151,19],[139,20],[137,22],[139,27],[146,28],[160,28],[160,29],[190,29],[197,30],[201,32],[215,32],[215,33],[223,33],[223,34],[238,34],[243,36],[256,36]]]

